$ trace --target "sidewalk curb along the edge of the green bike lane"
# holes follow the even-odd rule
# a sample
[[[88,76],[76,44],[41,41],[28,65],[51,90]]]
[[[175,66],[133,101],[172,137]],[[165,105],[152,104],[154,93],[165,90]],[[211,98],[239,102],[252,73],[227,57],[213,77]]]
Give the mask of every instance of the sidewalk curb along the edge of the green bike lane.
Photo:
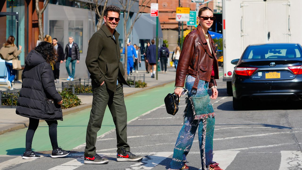
[[[172,83],[172,82],[175,82],[175,80],[170,80],[170,81],[166,81],[166,82],[163,82],[163,83],[158,83],[158,84],[155,84],[153,86],[141,88],[141,89],[129,92],[129,93],[124,93],[124,97],[131,96],[133,94],[143,92],[145,90],[150,90],[150,89],[153,89],[153,88],[156,88],[156,87],[162,87],[162,86],[165,86],[165,85],[167,85],[169,83]],[[91,108],[91,107],[92,107],[92,103],[86,103],[86,104],[83,104],[83,105],[80,105],[80,106],[72,107],[72,108],[69,108],[69,109],[64,109],[64,110],[62,110],[63,111],[63,116],[69,115],[69,114],[72,114],[72,113],[76,113],[76,112],[79,112],[79,111],[82,111],[82,110],[85,110],[85,109],[88,109],[88,108]],[[40,120],[40,121],[44,121],[44,120]],[[15,123],[13,125],[5,126],[5,127],[0,129],[0,135],[4,134],[6,132],[11,132],[11,131],[14,131],[14,130],[27,128],[28,125],[29,125],[29,120],[19,122],[19,123]]]

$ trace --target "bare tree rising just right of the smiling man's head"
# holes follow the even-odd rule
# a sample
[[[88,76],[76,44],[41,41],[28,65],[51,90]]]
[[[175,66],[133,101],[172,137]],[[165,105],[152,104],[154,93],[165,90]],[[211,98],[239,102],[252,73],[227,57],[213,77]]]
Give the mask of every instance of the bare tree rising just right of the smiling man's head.
[[[138,9],[138,12],[133,19],[132,25],[130,26],[130,28],[127,32],[127,21],[129,19],[129,15],[130,15],[130,9],[132,8],[132,6],[134,5],[134,3],[136,1],[135,0],[119,0],[120,4],[122,5],[122,8],[123,8],[122,11],[123,11],[123,17],[124,17],[125,72],[127,72],[127,39],[132,32],[135,22],[138,20],[138,18],[140,18],[140,16],[142,15],[143,11],[145,10],[145,8],[147,7],[147,5],[149,4],[150,1],[151,0],[142,1],[142,3],[140,4],[140,7]],[[146,4],[144,4],[145,2],[146,2]],[[125,74],[125,79],[127,80],[127,74]]]

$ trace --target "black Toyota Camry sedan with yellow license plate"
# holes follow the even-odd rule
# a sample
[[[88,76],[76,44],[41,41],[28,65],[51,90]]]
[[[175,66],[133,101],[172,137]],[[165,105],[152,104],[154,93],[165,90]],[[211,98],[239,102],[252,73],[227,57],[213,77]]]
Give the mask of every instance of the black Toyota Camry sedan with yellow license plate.
[[[233,72],[233,108],[245,99],[302,101],[302,47],[300,44],[260,44],[246,47]]]

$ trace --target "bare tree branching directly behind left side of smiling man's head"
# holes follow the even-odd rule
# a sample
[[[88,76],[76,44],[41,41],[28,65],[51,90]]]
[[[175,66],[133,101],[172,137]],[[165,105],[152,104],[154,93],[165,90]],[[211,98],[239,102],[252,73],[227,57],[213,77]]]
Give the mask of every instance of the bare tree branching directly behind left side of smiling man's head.
[[[97,15],[98,24],[96,25],[96,27],[99,30],[102,26],[103,21],[104,21],[104,11],[105,11],[105,8],[107,6],[108,0],[101,0],[100,3],[99,3],[99,0],[92,0],[92,2],[93,2],[93,5],[89,4],[89,7],[90,7],[90,11],[94,11],[95,14]],[[100,12],[98,8],[103,2],[104,2],[104,7]],[[94,23],[94,25],[95,25],[95,23]]]

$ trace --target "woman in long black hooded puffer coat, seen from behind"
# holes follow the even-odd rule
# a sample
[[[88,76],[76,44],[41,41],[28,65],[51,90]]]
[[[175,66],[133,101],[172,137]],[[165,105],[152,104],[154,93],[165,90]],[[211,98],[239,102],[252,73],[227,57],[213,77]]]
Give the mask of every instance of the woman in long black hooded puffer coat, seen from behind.
[[[56,60],[56,56],[53,45],[44,41],[31,50],[25,59],[22,88],[16,109],[18,115],[29,118],[23,159],[40,158],[31,150],[39,119],[45,120],[49,126],[49,137],[53,148],[51,157],[59,158],[69,154],[69,151],[59,148],[57,142],[57,120],[63,120],[61,109],[63,100],[56,90],[50,66],[50,63]]]

